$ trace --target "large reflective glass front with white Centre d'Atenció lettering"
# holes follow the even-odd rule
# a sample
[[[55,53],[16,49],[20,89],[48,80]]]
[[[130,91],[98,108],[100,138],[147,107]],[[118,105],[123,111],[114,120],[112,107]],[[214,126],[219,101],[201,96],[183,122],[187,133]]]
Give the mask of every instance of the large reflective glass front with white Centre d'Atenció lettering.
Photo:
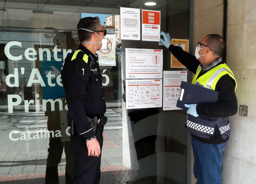
[[[189,37],[189,0],[0,1],[0,181],[73,182],[60,71],[80,44],[78,21],[99,16],[108,39],[97,52],[108,117],[100,183],[187,183],[185,111],[125,108],[125,49],[162,49],[163,70],[180,69],[158,42],[121,40],[120,6],[161,11],[161,31]]]

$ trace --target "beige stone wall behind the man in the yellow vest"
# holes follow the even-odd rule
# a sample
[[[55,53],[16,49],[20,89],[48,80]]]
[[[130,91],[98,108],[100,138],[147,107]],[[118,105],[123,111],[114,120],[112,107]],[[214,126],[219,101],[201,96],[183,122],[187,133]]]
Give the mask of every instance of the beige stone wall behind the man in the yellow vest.
[[[206,34],[222,35],[223,0],[195,0],[194,48]],[[256,1],[227,0],[227,64],[233,71],[239,105],[249,107],[248,117],[230,117],[231,134],[223,157],[224,184],[256,181]],[[191,164],[193,178],[193,162]],[[196,183],[193,178],[191,184]]]

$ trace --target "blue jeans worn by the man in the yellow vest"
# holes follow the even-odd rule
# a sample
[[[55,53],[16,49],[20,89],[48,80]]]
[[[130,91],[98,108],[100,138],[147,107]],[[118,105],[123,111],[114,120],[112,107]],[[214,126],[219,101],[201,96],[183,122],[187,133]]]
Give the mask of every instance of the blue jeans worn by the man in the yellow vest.
[[[222,152],[227,142],[206,144],[191,137],[196,184],[222,184]]]

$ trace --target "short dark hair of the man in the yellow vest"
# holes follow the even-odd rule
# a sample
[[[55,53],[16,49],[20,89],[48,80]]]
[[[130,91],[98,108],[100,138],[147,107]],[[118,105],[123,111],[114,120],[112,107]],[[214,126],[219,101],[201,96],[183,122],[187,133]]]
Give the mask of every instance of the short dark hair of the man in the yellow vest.
[[[225,41],[219,34],[208,34],[206,45],[212,49],[216,56],[221,56],[225,49]]]

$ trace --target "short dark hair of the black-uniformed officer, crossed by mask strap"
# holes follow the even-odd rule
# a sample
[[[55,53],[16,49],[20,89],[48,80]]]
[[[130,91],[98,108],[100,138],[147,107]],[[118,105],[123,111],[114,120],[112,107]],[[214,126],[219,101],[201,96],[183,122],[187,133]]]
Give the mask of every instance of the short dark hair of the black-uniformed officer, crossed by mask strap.
[[[99,30],[99,24],[100,18],[99,17],[84,17],[79,20],[77,24],[77,35],[80,42],[83,41],[89,41],[92,37],[92,32],[90,31],[98,31]],[[90,31],[86,31],[80,28],[88,29]]]

